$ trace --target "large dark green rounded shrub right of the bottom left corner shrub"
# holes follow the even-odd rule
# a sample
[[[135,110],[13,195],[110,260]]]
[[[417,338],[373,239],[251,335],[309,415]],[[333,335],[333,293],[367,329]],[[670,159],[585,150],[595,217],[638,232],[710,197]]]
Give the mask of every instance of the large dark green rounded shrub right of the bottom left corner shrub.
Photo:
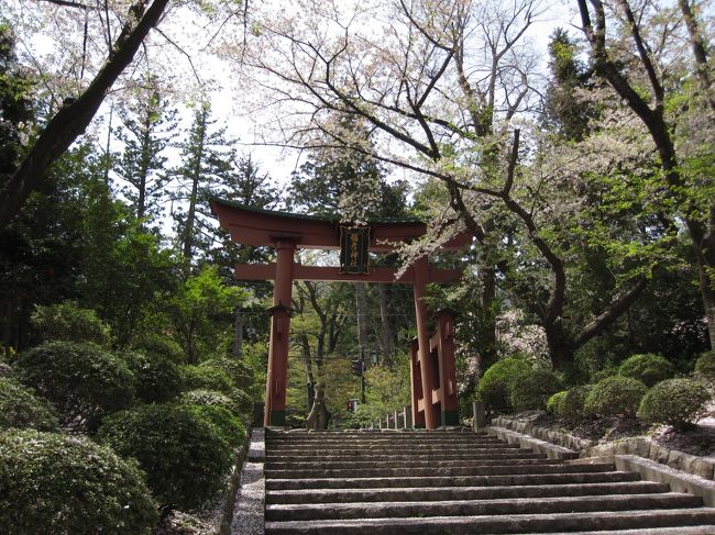
[[[164,512],[195,510],[223,488],[233,448],[197,405],[153,404],[107,417],[98,439],[146,472]]]

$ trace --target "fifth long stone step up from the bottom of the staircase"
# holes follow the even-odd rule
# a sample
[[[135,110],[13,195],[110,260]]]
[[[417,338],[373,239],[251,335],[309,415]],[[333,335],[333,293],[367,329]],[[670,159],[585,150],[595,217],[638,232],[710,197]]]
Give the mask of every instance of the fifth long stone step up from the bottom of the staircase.
[[[314,478],[374,478],[374,477],[435,477],[435,476],[496,476],[507,473],[569,473],[576,471],[608,471],[613,470],[610,464],[593,465],[563,465],[558,459],[515,459],[508,464],[483,461],[471,466],[435,466],[417,468],[336,468],[322,469],[288,469],[274,470],[270,465],[265,467],[266,479],[314,479]]]

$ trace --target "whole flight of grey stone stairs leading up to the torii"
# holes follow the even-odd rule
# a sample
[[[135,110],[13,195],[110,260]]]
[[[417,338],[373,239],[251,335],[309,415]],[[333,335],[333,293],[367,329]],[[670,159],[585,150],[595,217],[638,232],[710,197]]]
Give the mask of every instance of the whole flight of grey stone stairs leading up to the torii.
[[[267,534],[715,534],[715,509],[610,464],[471,432],[266,433]]]

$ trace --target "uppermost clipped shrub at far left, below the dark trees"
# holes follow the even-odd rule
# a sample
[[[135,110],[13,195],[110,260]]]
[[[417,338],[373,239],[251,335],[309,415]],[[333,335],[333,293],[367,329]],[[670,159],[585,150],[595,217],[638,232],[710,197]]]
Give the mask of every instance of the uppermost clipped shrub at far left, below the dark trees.
[[[31,322],[43,339],[109,345],[109,325],[97,317],[94,310],[81,309],[77,303],[67,301],[47,306],[38,305]]]

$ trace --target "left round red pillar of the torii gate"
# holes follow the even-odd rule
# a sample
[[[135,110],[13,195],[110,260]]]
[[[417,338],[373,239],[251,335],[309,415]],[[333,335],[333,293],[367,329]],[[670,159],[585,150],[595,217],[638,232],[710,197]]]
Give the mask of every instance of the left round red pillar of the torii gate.
[[[277,252],[273,306],[271,308],[271,344],[268,350],[268,376],[266,378],[265,415],[263,424],[285,426],[286,380],[288,375],[288,349],[290,337],[290,298],[293,289],[293,264],[295,241],[276,239]]]

